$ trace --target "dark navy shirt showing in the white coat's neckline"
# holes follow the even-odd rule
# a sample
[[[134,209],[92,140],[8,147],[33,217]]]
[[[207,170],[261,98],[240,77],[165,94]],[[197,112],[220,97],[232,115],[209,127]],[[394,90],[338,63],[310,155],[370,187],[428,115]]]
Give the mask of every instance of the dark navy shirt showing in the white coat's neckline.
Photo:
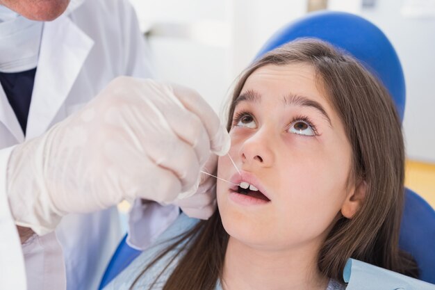
[[[26,72],[0,72],[0,83],[26,135],[28,109],[32,99],[36,68]]]

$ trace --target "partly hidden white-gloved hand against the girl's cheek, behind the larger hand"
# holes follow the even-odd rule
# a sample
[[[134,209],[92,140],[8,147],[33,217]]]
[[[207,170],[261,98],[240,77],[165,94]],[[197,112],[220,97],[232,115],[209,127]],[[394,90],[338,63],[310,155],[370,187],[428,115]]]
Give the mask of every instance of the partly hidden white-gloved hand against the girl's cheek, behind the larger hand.
[[[212,155],[206,162],[202,171],[212,175],[217,173],[217,156]],[[207,220],[216,210],[216,179],[204,173],[199,179],[199,187],[194,195],[187,198],[179,195],[179,198],[173,202],[177,204],[183,212],[191,218],[200,218]]]

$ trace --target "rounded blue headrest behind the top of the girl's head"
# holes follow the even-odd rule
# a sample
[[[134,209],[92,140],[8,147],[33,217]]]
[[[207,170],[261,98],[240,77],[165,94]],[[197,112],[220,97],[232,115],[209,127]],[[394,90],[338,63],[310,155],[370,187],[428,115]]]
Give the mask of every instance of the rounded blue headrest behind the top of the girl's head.
[[[350,13],[310,13],[272,35],[256,58],[297,38],[318,38],[352,54],[384,83],[403,120],[406,92],[402,65],[393,45],[375,24]]]

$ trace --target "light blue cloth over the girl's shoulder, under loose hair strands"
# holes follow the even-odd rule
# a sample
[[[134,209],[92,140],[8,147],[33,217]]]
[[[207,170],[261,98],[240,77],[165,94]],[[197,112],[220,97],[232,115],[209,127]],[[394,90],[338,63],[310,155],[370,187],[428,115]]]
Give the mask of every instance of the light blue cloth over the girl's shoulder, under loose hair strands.
[[[199,223],[198,219],[189,218],[185,214],[181,214],[177,220],[175,220],[174,223],[172,223],[172,225],[170,225],[170,227],[168,227],[165,232],[158,237],[154,245],[151,245],[150,248],[143,251],[128,267],[124,269],[124,271],[122,271],[122,273],[120,273],[120,275],[117,275],[117,277],[115,277],[115,279],[110,282],[104,290],[131,289],[130,287],[135,280],[137,281],[133,289],[149,289],[151,285],[153,285],[152,289],[162,289],[167,278],[170,276],[172,271],[174,271],[175,266],[177,266],[179,260],[183,256],[182,252],[180,255],[177,255],[179,247],[183,245],[183,243],[179,244],[177,248],[167,252],[167,255],[162,259],[158,259],[158,261],[148,268],[145,273],[142,272],[145,267],[160,255],[168,245],[171,245],[178,236],[187,232],[197,223]]]

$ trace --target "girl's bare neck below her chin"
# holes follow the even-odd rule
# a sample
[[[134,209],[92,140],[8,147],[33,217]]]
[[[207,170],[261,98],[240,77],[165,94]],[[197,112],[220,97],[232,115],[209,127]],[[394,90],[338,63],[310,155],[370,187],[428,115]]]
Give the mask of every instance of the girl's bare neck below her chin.
[[[313,246],[258,250],[229,238],[224,260],[224,290],[325,290],[329,279],[318,271]]]

